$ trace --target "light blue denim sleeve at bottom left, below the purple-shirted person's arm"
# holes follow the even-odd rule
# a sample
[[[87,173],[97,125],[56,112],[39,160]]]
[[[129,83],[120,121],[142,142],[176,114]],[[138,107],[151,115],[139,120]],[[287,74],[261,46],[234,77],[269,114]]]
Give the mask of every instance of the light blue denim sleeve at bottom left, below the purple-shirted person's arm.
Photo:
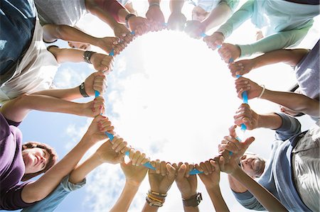
[[[82,186],[85,186],[85,182],[86,180],[83,179],[83,181],[78,184],[72,184],[69,182],[69,175],[67,175],[63,178],[58,187],[51,194],[49,194],[49,196],[41,201],[38,201],[33,206],[23,208],[22,212],[55,211],[55,208],[60,205],[63,199],[65,199],[65,197],[68,196],[71,191],[82,188]]]

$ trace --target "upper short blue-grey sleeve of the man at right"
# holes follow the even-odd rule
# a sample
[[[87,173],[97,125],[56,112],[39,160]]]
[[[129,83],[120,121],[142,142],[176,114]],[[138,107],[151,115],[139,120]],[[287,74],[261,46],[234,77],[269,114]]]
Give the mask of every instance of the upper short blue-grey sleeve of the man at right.
[[[276,113],[282,118],[282,125],[276,130],[276,140],[287,140],[293,135],[301,133],[301,124],[292,116],[287,116],[285,113]]]

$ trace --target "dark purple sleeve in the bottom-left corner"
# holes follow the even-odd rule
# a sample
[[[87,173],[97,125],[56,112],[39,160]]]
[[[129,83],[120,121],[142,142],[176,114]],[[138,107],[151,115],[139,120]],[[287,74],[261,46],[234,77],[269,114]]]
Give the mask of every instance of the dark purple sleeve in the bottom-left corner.
[[[24,186],[30,182],[26,182],[20,185],[13,186],[6,191],[6,193],[1,194],[1,205],[0,208],[4,210],[16,210],[28,206],[32,206],[34,203],[26,203],[21,198],[21,192]]]

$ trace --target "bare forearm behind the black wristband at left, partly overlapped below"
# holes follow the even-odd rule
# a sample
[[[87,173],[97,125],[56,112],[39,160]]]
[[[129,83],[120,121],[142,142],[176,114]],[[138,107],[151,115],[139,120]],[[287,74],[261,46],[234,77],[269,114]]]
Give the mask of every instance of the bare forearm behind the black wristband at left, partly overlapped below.
[[[43,91],[38,91],[33,94],[52,96],[58,99],[64,99],[68,101],[72,101],[74,99],[80,99],[83,97],[80,94],[79,87],[74,87],[73,89],[47,89]]]

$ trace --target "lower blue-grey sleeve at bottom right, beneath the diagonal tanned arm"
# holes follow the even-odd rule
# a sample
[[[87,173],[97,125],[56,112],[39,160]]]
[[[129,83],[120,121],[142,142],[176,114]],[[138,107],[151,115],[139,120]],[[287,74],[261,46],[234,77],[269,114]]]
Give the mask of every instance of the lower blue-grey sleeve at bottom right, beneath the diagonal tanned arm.
[[[265,211],[265,208],[255,199],[255,196],[253,196],[250,191],[245,191],[245,193],[233,191],[233,195],[243,207],[255,211]]]

